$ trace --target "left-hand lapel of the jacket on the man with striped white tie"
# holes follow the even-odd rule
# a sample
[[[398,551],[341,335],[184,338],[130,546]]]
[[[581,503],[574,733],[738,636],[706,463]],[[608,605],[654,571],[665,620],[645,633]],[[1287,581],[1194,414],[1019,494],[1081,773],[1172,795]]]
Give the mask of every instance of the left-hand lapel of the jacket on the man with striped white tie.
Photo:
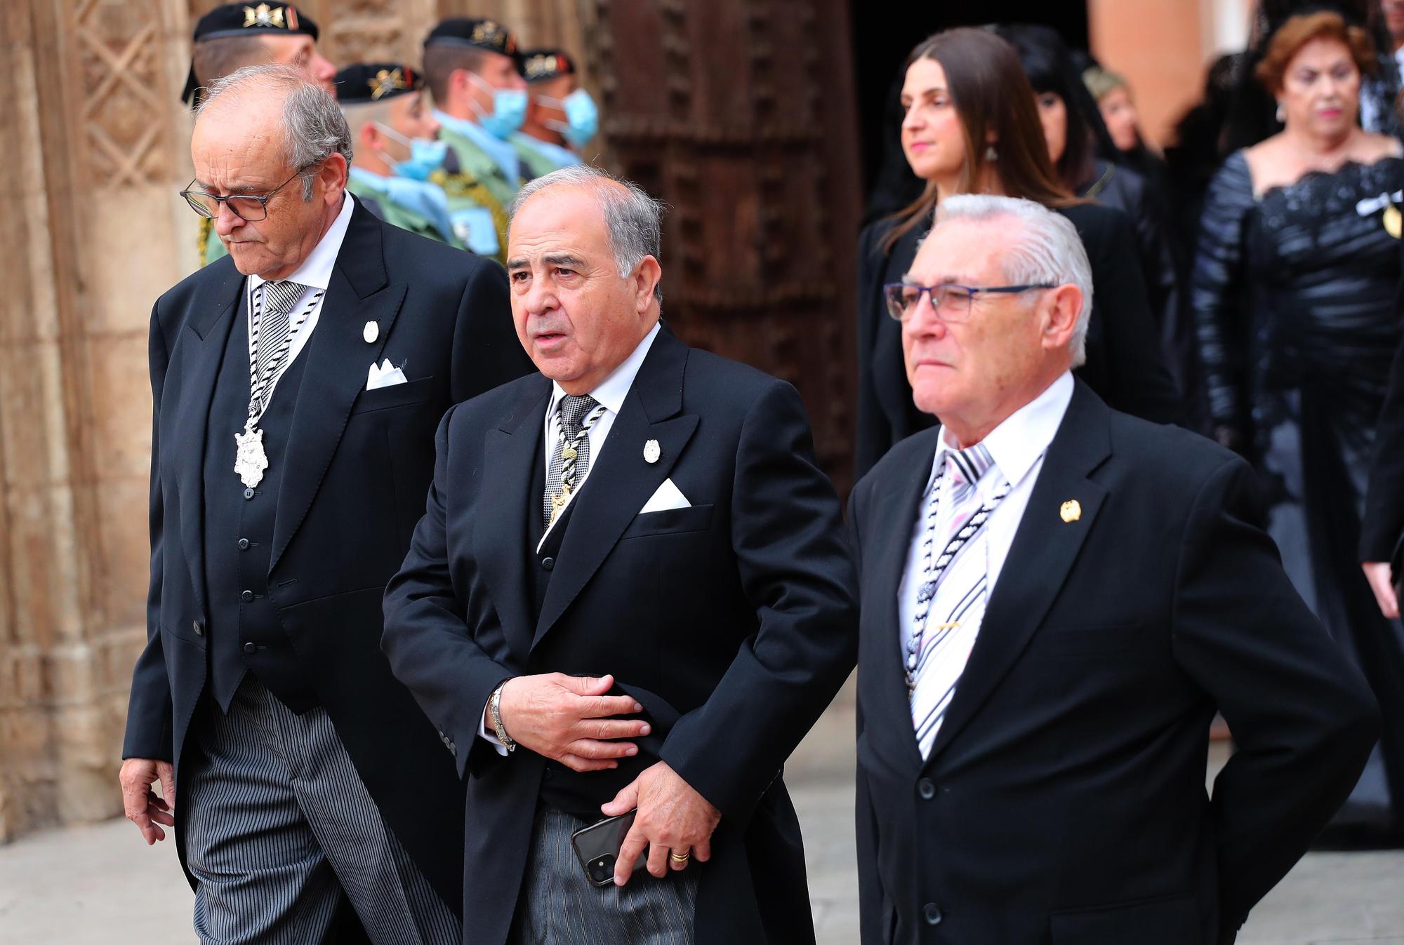
[[[875,693],[885,712],[880,718],[907,719],[899,740],[906,746],[904,756],[913,768],[921,766],[921,753],[911,729],[911,701],[907,695],[907,672],[901,662],[903,644],[908,628],[901,625],[897,609],[897,593],[907,571],[907,552],[911,547],[911,530],[921,515],[921,495],[931,478],[931,461],[935,457],[938,429],[931,429],[921,437],[929,449],[917,453],[920,461],[901,470],[900,478],[893,477],[890,488],[885,489],[872,515],[869,534],[883,536],[875,544],[875,554],[866,568],[872,575],[863,580],[862,609],[865,614],[878,614],[865,632],[875,635],[875,646],[862,655],[866,659],[862,672],[872,673],[873,686],[865,687]]]

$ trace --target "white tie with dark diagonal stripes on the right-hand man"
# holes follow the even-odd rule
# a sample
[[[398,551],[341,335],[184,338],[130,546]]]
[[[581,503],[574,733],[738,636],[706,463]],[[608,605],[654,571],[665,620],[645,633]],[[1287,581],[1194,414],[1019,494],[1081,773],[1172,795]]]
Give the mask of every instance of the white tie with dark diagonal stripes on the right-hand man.
[[[980,480],[990,470],[998,472],[983,443],[951,450],[945,460],[927,502],[921,586],[906,648],[911,723],[921,757],[936,740],[980,632],[987,596],[983,526],[1009,494],[1004,482],[981,502]]]

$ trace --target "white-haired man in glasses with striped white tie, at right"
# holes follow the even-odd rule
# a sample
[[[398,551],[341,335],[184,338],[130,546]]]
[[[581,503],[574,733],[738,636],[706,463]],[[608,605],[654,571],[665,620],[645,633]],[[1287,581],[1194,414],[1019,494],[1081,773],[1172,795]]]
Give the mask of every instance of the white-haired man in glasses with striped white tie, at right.
[[[1252,471],[1074,380],[1091,268],[1054,212],[943,199],[885,292],[939,425],[849,499],[862,942],[1231,942],[1377,730]]]

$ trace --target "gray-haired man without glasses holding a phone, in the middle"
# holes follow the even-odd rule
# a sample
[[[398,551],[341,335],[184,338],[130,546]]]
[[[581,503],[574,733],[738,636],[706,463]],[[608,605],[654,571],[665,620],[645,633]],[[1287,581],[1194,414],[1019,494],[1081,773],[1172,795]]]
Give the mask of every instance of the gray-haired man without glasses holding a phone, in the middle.
[[[814,941],[781,767],[852,667],[852,561],[795,388],[660,322],[658,215],[584,165],[517,196],[541,373],[444,418],[386,590],[468,775],[473,945]]]

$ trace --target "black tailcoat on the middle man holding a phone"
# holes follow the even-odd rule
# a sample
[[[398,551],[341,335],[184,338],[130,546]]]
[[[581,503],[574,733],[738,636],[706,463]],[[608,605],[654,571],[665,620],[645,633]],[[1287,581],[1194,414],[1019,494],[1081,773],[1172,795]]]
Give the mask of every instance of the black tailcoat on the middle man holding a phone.
[[[852,667],[856,601],[800,398],[664,328],[571,502],[534,620],[526,569],[541,562],[524,536],[550,390],[526,377],[444,419],[428,513],[385,596],[395,674],[468,770],[465,942],[507,938],[545,778],[573,780],[598,812],[658,759],[722,810],[713,859],[689,866],[702,871],[696,941],[812,942],[778,774]],[[639,515],[667,478],[691,508]],[[477,737],[498,683],[546,672],[614,673],[639,698],[656,730],[633,764],[573,774]]]

